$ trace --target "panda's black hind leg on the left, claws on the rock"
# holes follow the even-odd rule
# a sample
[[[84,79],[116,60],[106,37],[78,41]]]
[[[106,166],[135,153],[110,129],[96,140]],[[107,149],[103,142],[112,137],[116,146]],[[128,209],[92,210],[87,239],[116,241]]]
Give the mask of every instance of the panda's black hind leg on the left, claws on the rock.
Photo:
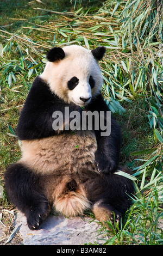
[[[27,217],[30,229],[36,229],[50,212],[43,193],[41,177],[22,163],[11,164],[5,172],[5,188],[11,202]]]

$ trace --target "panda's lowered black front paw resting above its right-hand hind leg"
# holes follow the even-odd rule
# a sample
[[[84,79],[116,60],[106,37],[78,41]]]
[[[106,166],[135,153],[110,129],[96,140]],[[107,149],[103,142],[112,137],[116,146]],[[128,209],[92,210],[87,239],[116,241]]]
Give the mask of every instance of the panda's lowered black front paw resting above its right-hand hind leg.
[[[116,161],[107,159],[104,154],[98,153],[98,151],[95,154],[95,162],[98,172],[104,174],[112,173],[117,169]]]

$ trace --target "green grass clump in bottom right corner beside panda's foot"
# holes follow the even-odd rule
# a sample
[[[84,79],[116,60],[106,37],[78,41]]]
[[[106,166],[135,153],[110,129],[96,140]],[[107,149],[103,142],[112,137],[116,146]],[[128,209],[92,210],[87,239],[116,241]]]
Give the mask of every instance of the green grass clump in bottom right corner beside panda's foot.
[[[145,195],[137,194],[132,198],[133,205],[126,214],[125,220],[115,227],[110,221],[107,224],[112,229],[107,231],[111,236],[104,242],[105,245],[161,245],[163,231],[161,228],[163,212],[160,211],[159,199],[162,200],[162,187],[160,190],[152,188]]]

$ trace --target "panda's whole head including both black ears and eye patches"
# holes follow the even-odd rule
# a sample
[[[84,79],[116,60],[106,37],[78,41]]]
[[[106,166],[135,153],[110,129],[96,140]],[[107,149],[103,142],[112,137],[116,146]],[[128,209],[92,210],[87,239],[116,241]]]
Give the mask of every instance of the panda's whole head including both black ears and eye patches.
[[[103,46],[91,51],[78,45],[54,47],[47,53],[41,78],[65,102],[85,106],[101,92],[103,77],[98,61],[104,53]]]

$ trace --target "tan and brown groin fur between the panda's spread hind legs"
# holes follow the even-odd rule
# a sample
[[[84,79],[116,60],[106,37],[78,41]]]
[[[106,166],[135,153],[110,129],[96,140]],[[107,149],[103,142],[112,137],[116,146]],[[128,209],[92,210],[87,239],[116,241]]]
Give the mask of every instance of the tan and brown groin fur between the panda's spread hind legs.
[[[76,175],[45,176],[44,182],[46,196],[55,211],[77,216],[90,209],[84,186]]]

